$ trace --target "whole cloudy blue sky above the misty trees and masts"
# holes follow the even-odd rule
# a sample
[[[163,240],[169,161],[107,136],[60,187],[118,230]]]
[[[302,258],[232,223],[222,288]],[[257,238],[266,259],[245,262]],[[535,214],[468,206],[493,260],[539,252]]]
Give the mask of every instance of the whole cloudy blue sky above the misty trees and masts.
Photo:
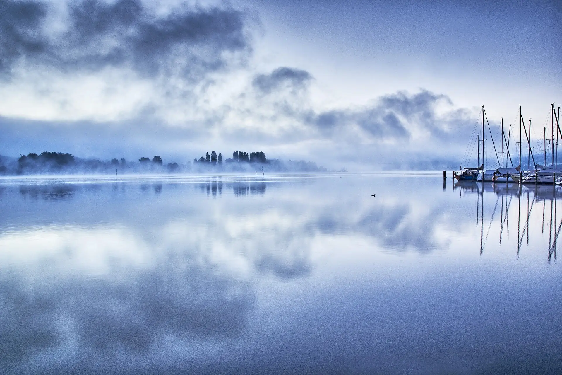
[[[560,14],[560,2],[2,1],[0,155],[457,165],[482,105],[496,143],[501,118],[518,132],[519,106],[532,143],[550,132]]]

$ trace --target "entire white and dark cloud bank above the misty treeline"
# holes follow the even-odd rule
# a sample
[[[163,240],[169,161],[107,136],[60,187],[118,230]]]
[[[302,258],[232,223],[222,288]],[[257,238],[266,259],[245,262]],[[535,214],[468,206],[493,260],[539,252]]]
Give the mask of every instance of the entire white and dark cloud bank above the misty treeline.
[[[397,144],[430,158],[451,155],[461,148],[454,129],[463,131],[472,115],[425,89],[364,106],[320,106],[311,71],[259,69],[252,60],[259,17],[228,3],[6,1],[0,8],[0,147],[11,156],[148,152],[185,162],[209,148],[259,149],[323,165],[380,164]]]

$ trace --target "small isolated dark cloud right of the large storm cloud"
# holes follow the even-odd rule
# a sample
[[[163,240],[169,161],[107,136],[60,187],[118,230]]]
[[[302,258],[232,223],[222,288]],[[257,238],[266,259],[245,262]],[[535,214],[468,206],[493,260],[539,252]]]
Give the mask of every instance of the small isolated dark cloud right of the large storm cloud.
[[[293,90],[305,88],[311,79],[312,75],[306,70],[283,66],[269,74],[257,75],[252,81],[252,86],[260,93],[270,94],[284,87]]]

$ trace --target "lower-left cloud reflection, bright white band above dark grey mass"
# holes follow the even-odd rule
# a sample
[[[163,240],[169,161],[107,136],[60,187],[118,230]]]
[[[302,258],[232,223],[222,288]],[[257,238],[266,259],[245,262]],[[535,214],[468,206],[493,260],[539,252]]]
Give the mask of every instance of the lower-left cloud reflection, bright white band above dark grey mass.
[[[0,364],[61,342],[145,351],[166,335],[240,335],[255,299],[247,279],[198,246],[159,242],[112,228],[1,236]]]

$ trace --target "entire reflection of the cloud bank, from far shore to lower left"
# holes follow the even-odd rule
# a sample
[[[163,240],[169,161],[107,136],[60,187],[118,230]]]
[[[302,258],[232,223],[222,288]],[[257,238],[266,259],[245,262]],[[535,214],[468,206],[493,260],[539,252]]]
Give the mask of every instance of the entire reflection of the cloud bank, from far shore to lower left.
[[[71,204],[43,200],[40,213],[7,186],[0,210],[34,224],[0,232],[0,367],[60,353],[74,363],[130,359],[170,340],[191,347],[246,336],[259,280],[314,275],[321,237],[390,251],[446,246],[438,236],[446,207],[342,196],[333,180],[273,179],[71,184],[80,192]]]

